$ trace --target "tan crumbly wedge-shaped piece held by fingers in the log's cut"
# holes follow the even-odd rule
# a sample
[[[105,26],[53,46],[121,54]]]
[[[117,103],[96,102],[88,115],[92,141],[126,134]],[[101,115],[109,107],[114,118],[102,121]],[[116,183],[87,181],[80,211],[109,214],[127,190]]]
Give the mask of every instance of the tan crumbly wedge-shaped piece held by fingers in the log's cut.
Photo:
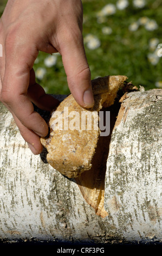
[[[111,106],[114,103],[116,93],[126,78],[126,76],[106,76],[92,80],[94,107],[91,109],[82,108],[70,94],[56,108],[56,111],[60,111],[61,116],[59,118],[62,120],[64,118],[64,107],[68,107],[68,112],[77,111],[81,118],[83,111],[88,114],[88,112],[99,112],[102,106]],[[94,118],[98,118],[96,113]],[[92,167],[92,158],[100,136],[100,129],[98,127],[98,130],[94,130],[92,126],[92,130],[53,130],[52,124],[55,119],[52,115],[49,121],[49,138],[41,138],[41,143],[48,151],[47,161],[68,178],[76,178]],[[70,118],[68,122],[70,122]],[[86,119],[86,127],[87,123],[88,120]]]

